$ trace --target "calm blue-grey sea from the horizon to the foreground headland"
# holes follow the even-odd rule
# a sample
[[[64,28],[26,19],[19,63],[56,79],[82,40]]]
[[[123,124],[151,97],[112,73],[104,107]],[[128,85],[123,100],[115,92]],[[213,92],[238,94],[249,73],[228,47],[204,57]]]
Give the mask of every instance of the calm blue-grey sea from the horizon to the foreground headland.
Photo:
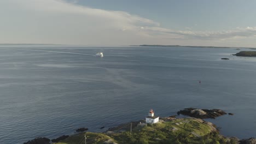
[[[226,136],[256,137],[256,58],[230,56],[236,52],[2,45],[0,143],[53,139],[81,127],[105,131],[149,109],[164,117],[185,107],[235,113],[207,121]]]

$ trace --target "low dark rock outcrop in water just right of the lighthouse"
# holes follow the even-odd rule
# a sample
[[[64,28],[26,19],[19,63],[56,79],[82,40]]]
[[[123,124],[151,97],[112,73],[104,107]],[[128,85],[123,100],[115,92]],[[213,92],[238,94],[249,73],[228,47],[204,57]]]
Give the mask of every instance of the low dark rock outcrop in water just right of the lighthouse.
[[[187,109],[178,111],[177,114],[187,115],[195,118],[215,118],[222,115],[226,115],[226,112],[219,109],[212,109],[212,110],[202,109],[201,110],[201,109],[195,109],[195,108],[187,108]]]

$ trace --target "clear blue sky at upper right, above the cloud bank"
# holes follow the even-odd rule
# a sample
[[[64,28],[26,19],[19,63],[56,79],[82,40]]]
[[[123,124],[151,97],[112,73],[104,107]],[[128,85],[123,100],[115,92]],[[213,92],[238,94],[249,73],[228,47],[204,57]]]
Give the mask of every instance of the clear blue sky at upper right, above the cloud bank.
[[[161,26],[183,30],[232,29],[256,26],[256,1],[78,1],[77,4],[106,10],[121,10],[158,21]]]

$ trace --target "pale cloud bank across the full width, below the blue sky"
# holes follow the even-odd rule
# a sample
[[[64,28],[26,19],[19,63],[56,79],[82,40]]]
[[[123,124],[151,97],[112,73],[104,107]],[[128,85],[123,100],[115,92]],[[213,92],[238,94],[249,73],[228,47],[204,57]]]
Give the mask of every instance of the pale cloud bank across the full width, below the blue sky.
[[[80,45],[211,45],[256,47],[256,27],[193,31],[161,27],[159,22],[63,0],[0,2],[0,43]]]

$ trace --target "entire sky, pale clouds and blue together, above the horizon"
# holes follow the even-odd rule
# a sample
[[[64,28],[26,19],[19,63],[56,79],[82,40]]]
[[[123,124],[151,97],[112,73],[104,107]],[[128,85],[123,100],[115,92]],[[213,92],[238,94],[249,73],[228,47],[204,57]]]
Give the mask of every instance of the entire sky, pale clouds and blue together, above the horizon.
[[[0,0],[0,44],[256,47],[256,1]]]

